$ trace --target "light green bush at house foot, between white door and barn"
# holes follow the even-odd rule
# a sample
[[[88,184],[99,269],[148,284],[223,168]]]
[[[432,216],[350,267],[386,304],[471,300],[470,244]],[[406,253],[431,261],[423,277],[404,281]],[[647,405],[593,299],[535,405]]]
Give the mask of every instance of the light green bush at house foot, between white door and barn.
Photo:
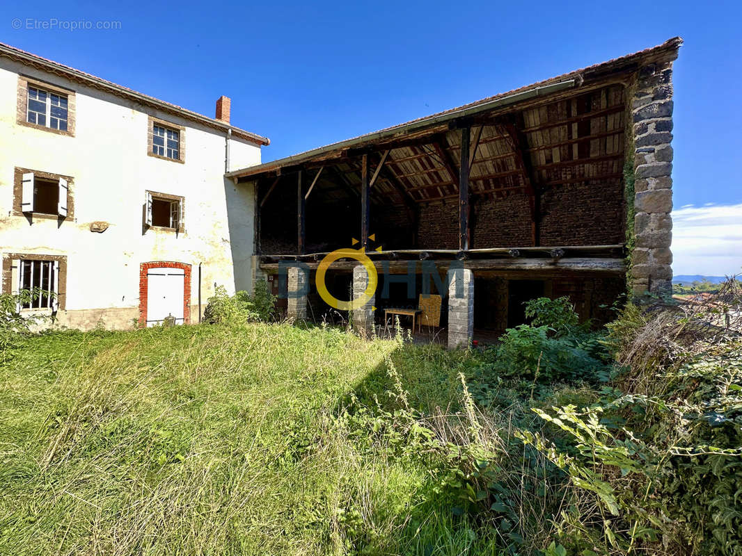
[[[203,320],[211,324],[239,324],[240,322],[267,321],[272,317],[275,297],[266,282],[255,284],[255,295],[237,291],[230,296],[223,285],[217,285],[214,296],[209,297]]]

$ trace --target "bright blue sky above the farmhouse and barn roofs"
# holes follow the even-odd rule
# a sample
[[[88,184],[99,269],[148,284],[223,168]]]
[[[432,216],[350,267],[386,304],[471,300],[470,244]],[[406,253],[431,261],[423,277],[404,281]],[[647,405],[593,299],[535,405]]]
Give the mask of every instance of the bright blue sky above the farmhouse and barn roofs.
[[[713,257],[698,246],[686,254],[677,242],[686,228],[676,225],[674,268],[740,271],[742,2],[603,4],[77,1],[62,9],[36,0],[0,7],[0,41],[209,116],[218,96],[230,96],[234,125],[272,139],[268,161],[679,35],[674,205],[715,207],[731,243]],[[119,21],[120,29],[27,28],[53,19]]]

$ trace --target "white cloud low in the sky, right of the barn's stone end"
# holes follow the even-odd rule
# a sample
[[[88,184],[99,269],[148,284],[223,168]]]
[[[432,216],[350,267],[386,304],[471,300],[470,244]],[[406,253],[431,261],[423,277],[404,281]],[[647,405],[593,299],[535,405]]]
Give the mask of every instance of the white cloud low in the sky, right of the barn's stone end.
[[[742,203],[684,205],[672,221],[674,274],[742,273]]]

